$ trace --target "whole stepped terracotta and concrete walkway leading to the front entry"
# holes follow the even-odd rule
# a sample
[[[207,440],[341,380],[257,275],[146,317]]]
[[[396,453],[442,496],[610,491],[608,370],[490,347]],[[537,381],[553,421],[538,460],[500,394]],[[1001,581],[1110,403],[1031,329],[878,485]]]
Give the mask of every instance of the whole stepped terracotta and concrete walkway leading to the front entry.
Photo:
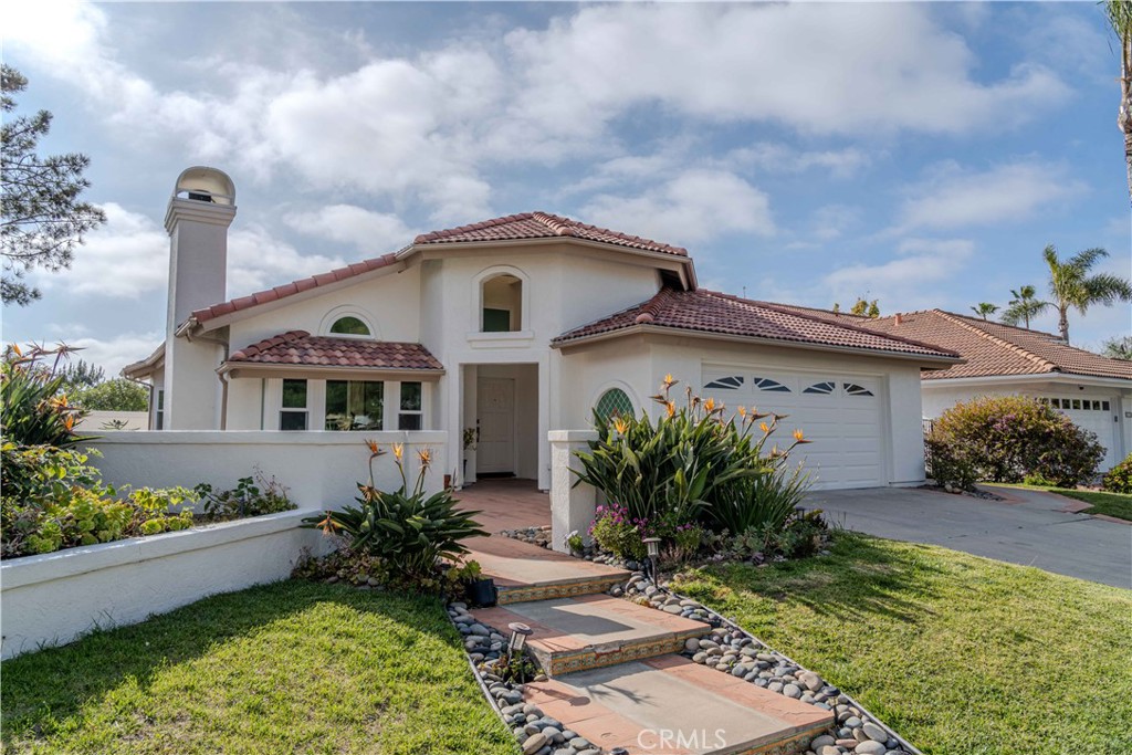
[[[489,532],[550,522],[548,497],[524,481],[479,482],[460,498],[482,511]],[[832,722],[827,711],[678,655],[711,627],[603,594],[628,578],[623,569],[498,535],[466,544],[499,587],[500,604],[472,609],[477,620],[534,629],[529,646],[551,678],[526,685],[524,702],[606,752],[792,755]]]

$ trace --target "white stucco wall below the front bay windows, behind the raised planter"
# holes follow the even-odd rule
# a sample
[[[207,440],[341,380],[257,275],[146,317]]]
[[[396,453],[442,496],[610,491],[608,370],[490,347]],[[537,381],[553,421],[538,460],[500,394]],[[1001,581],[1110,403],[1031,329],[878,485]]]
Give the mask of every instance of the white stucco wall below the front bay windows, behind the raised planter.
[[[405,444],[406,471],[419,470],[417,451],[429,448],[432,467],[427,488],[439,490],[451,472],[443,432],[118,432],[86,446],[97,448],[92,457],[103,479],[114,486],[191,488],[207,482],[217,489],[235,487],[238,479],[256,467],[289,488],[300,507],[340,508],[358,495],[357,482],[369,479],[369,449],[375,440],[385,451]],[[401,484],[393,455],[374,464],[375,483],[383,490]]]

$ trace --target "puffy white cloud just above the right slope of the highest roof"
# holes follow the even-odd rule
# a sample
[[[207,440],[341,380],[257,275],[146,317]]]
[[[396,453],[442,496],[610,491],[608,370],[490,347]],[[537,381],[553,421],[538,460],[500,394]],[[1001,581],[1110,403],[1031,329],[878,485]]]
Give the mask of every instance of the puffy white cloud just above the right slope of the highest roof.
[[[726,171],[689,170],[635,197],[600,195],[582,212],[589,222],[678,244],[775,230],[766,195]]]

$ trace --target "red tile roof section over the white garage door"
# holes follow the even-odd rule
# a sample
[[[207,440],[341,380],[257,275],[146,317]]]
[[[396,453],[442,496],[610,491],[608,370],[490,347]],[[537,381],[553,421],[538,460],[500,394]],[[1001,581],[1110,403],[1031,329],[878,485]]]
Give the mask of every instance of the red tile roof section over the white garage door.
[[[895,352],[935,359],[958,358],[955,353],[938,346],[882,335],[855,325],[829,323],[790,311],[778,304],[751,301],[704,289],[696,291],[662,289],[649,301],[564,333],[555,338],[554,343],[567,344],[603,333],[626,331],[636,325],[841,349]]]

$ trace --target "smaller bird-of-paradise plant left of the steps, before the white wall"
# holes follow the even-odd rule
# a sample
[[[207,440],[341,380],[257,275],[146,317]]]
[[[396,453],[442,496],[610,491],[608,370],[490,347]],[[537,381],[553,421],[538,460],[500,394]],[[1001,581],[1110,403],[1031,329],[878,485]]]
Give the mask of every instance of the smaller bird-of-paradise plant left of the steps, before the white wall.
[[[359,506],[327,511],[325,515],[303,520],[303,526],[321,529],[326,534],[344,537],[346,546],[381,558],[397,578],[435,580],[441,558],[458,560],[468,554],[462,540],[488,533],[472,518],[480,512],[457,508],[460,501],[451,488],[431,496],[424,495],[424,475],[431,464],[427,449],[418,452],[420,474],[410,490],[402,463],[403,446],[393,454],[401,473],[401,488],[383,492],[374,487],[374,461],[386,452],[374,441],[370,449],[369,483],[358,483]]]

